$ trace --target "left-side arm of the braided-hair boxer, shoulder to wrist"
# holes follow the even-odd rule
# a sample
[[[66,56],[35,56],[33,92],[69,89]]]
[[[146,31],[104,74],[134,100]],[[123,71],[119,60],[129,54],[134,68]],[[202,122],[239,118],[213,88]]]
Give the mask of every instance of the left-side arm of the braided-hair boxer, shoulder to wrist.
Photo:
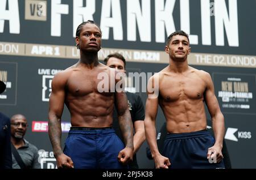
[[[49,97],[48,132],[55,157],[63,153],[61,150],[61,115],[64,108],[65,80],[62,76],[62,74],[56,74],[53,78],[52,92]]]

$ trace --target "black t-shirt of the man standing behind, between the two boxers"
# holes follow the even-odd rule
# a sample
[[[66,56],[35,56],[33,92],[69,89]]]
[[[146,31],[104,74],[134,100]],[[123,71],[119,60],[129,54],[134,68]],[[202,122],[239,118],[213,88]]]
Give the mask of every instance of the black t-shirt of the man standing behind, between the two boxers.
[[[144,121],[145,113],[144,113],[144,106],[143,106],[141,97],[130,92],[126,92],[126,96],[128,100],[130,114],[131,114],[131,120],[133,121],[133,123],[135,121]],[[115,130],[115,133],[124,143],[122,132],[119,128],[117,110],[115,108],[113,112],[113,128]],[[133,157],[133,162],[130,164],[130,168],[138,168],[136,156]]]

